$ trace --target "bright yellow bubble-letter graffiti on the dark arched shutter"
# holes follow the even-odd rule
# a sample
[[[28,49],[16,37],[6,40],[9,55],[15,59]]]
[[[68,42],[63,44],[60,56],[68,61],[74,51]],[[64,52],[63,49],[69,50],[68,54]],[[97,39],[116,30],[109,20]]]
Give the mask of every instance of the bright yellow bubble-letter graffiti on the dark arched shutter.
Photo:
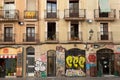
[[[66,64],[68,68],[84,68],[85,64],[85,57],[83,56],[67,56],[66,57]]]

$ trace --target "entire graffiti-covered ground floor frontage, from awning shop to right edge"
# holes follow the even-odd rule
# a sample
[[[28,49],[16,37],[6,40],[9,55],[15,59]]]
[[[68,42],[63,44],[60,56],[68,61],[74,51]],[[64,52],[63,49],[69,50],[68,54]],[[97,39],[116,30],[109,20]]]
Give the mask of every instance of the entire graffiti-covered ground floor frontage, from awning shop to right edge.
[[[120,45],[4,46],[0,48],[0,66],[0,77],[120,76]]]

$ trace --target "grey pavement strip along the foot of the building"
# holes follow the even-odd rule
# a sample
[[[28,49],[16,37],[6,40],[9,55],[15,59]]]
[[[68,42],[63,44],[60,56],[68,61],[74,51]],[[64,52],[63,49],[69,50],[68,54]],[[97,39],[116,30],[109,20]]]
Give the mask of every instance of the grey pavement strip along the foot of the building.
[[[120,77],[47,77],[0,78],[0,80],[120,80]]]

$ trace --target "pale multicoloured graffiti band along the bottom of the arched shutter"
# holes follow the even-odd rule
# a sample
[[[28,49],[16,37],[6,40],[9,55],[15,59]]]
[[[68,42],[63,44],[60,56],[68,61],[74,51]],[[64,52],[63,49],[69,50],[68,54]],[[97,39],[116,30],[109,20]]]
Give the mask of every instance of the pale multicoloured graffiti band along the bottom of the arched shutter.
[[[85,76],[85,73],[81,69],[79,70],[67,69],[66,75],[67,76]]]

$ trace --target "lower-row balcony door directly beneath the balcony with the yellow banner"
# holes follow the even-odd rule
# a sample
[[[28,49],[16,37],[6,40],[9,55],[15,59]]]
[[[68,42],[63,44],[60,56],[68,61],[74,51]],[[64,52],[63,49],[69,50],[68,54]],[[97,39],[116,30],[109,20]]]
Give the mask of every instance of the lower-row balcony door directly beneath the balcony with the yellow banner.
[[[27,27],[26,41],[29,41],[29,42],[35,41],[35,28],[34,27]]]

